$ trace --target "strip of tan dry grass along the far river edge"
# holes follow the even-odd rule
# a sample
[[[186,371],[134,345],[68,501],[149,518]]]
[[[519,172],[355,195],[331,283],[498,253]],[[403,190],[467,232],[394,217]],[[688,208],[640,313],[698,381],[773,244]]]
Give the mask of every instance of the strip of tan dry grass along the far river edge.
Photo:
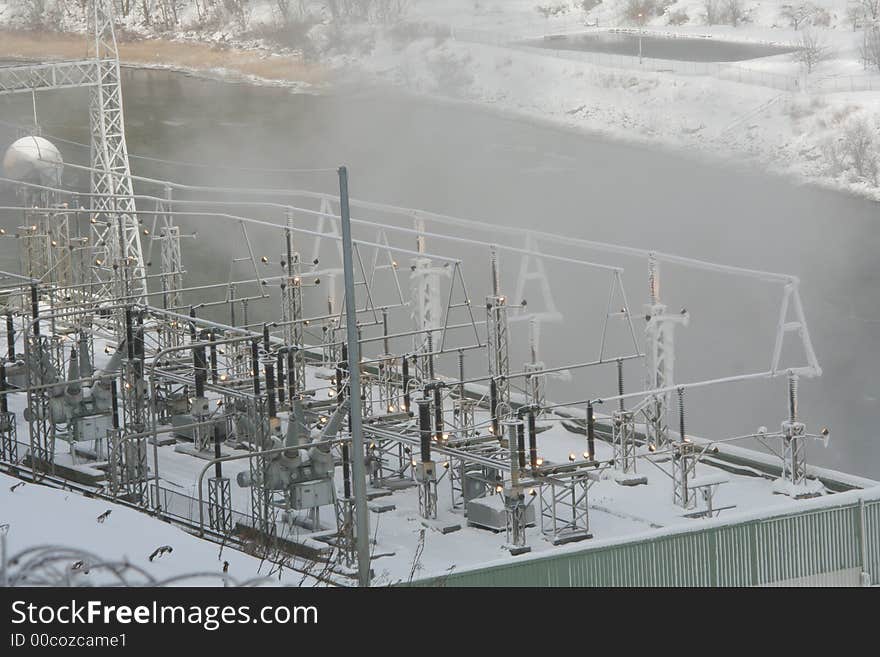
[[[89,56],[89,41],[83,35],[44,32],[0,31],[0,58],[82,59]],[[119,56],[125,64],[163,65],[186,70],[226,69],[242,75],[267,80],[323,82],[326,71],[303,62],[293,55],[265,54],[219,48],[205,43],[139,39],[119,44]]]

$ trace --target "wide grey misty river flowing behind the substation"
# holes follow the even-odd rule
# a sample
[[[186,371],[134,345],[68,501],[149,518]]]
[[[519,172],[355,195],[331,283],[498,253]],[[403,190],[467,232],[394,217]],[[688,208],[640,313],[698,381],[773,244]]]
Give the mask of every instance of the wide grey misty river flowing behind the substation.
[[[87,142],[86,100],[80,92],[39,97],[44,132]],[[709,164],[475,107],[371,90],[315,96],[128,71],[125,112],[130,150],[143,156],[232,167],[344,163],[350,167],[355,198],[481,219],[498,226],[497,239],[505,226],[538,228],[798,275],[824,368],[821,379],[801,382],[801,415],[814,431],[823,425],[832,430],[829,448],[811,444],[809,460],[880,477],[880,224],[875,203],[791,184],[753,168]],[[24,122],[30,116],[29,98],[0,97],[0,119]],[[0,126],[0,143],[14,137],[15,130]],[[87,149],[60,146],[68,161],[87,161]],[[133,167],[143,175],[194,184],[335,188],[332,173],[242,172],[140,159],[133,159]],[[77,183],[76,175],[70,182]],[[11,200],[9,189],[0,189],[0,196]],[[11,213],[0,214],[7,230],[19,222]],[[184,232],[199,231],[198,240],[184,241],[190,282],[225,280],[230,256],[242,255],[240,233],[216,220],[183,223]],[[257,249],[277,259],[277,238],[254,240]],[[0,244],[0,264],[15,267],[15,243]],[[463,259],[470,295],[482,299],[489,282],[486,249],[451,249],[429,240],[432,246]],[[616,262],[607,254],[593,256]],[[648,291],[644,262],[619,264],[627,268],[630,305],[639,315]],[[502,257],[505,290],[514,289],[518,267],[518,260]],[[542,359],[548,366],[594,359],[606,278],[594,270],[550,264],[547,273],[565,321],[544,326]],[[769,367],[781,300],[778,285],[675,267],[664,267],[661,276],[661,295],[670,309],[684,306],[691,315],[690,326],[676,334],[678,381]],[[530,307],[540,301],[540,295],[527,294]],[[479,301],[476,307],[480,315]],[[252,312],[259,315],[256,306]],[[409,328],[406,318],[395,322],[395,330]],[[644,320],[636,318],[635,328],[641,335]],[[515,323],[512,331],[512,367],[520,369],[525,326]],[[614,353],[627,353],[625,340],[611,347]],[[449,374],[455,372],[451,360],[441,367]],[[482,357],[469,361],[468,369],[471,375],[485,373]],[[643,372],[634,363],[627,365],[626,376],[628,389],[642,385]],[[578,400],[615,388],[609,368],[553,380],[548,396]],[[701,389],[687,396],[688,432],[715,438],[753,432],[761,425],[772,430],[785,413],[782,380]]]

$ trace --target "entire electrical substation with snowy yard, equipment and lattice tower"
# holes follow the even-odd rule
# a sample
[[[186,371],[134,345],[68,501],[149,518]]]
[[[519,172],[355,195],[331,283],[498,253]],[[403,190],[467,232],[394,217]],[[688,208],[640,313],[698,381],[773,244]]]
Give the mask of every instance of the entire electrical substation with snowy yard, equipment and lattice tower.
[[[89,58],[0,67],[0,94],[35,105],[87,88],[91,135],[88,166],[36,126],[4,145],[20,201],[0,208],[20,258],[0,272],[4,472],[290,568],[320,563],[337,584],[412,578],[423,552],[436,574],[835,492],[807,463],[829,430],[799,410],[821,368],[797,278],[526,229],[480,241],[486,225],[350,199],[345,167],[328,173],[338,194],[275,202],[134,175],[108,4],[91,5]],[[88,190],[68,188],[69,171]],[[228,277],[191,283],[188,222],[205,217],[229,236],[215,254]],[[464,244],[488,277],[457,257]],[[618,258],[641,263],[642,287],[627,289]],[[546,263],[607,296],[554,301]],[[706,320],[664,303],[666,267],[776,290],[766,367],[679,380],[676,343]],[[568,304],[601,325],[598,345],[571,353],[596,355],[544,362],[542,324]],[[799,362],[785,362],[791,346]],[[599,384],[548,396],[580,371]],[[776,417],[742,436],[689,433],[692,394],[758,380],[773,381]],[[740,442],[767,449],[747,462],[728,449]]]

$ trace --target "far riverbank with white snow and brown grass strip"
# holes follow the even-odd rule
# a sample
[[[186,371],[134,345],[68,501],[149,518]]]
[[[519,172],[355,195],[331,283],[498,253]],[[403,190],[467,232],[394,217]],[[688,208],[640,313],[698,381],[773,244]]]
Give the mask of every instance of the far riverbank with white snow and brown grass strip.
[[[264,4],[251,5],[251,26],[259,16],[272,20]],[[334,32],[327,12],[318,11],[304,32],[308,56],[249,39],[253,29],[236,30],[234,24],[126,40],[121,54],[133,65],[299,89],[319,87],[331,77],[366,77],[614,139],[746,160],[799,180],[880,198],[880,73],[866,71],[859,61],[858,34],[847,22],[845,4],[828,10],[827,25],[811,27],[827,44],[828,58],[809,75],[790,54],[694,75],[656,60],[618,57],[599,64],[589,54],[511,45],[525,36],[628,24],[620,14],[624,0],[599,4],[588,13],[568,4],[568,11],[543,20],[539,5],[529,0],[412,0],[406,22],[349,23],[342,32]],[[17,0],[0,2],[0,22],[14,23],[17,6]],[[795,43],[803,34],[803,25],[796,31],[783,20],[781,2],[746,3],[751,22],[736,28],[701,23],[700,6],[670,4],[638,29],[775,44]],[[687,17],[681,25],[670,24],[676,11]],[[600,27],[584,27],[590,21]],[[125,27],[137,32],[138,26],[129,20]],[[0,56],[78,51],[70,36],[2,37]]]

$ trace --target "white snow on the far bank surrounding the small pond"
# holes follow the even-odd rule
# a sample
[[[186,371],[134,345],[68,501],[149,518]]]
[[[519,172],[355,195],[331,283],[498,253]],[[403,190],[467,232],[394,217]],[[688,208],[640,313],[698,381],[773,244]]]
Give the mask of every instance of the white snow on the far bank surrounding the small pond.
[[[511,48],[498,44],[588,32],[597,28],[582,23],[597,18],[598,29],[632,26],[619,16],[622,2],[602,3],[586,18],[573,20],[578,14],[570,11],[543,22],[535,20],[532,2],[476,4],[480,10],[465,1],[418,4],[414,12],[452,25],[456,38],[416,40],[399,50],[390,41],[380,43],[358,64],[422,93],[475,101],[613,138],[745,158],[776,173],[878,197],[873,165],[854,166],[842,147],[853,132],[863,135],[870,142],[869,159],[876,160],[880,116],[880,75],[866,71],[859,59],[862,32],[854,32],[847,22],[845,3],[832,3],[829,27],[811,27],[833,57],[806,77],[791,55],[688,75],[658,72],[686,66],[639,65],[636,57],[604,58],[597,65],[589,54]],[[706,25],[700,19],[702,3],[679,2],[643,29],[658,35],[797,43],[803,31],[791,29],[780,17],[783,4],[746,3],[753,22],[732,28]],[[691,17],[688,23],[669,25],[668,14],[679,10]],[[792,91],[795,85],[798,90]],[[865,88],[874,90],[860,90]]]

